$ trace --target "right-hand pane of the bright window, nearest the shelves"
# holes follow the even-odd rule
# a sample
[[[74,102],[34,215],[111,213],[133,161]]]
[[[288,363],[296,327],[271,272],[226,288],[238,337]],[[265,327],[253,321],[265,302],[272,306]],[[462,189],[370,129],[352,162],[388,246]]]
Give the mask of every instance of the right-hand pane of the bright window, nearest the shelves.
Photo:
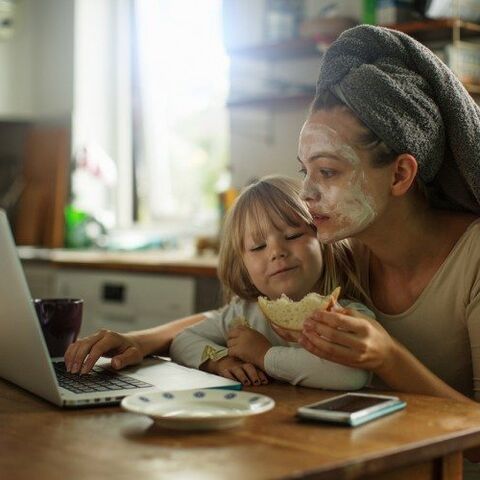
[[[132,39],[134,218],[214,229],[227,164],[221,0],[136,0]]]

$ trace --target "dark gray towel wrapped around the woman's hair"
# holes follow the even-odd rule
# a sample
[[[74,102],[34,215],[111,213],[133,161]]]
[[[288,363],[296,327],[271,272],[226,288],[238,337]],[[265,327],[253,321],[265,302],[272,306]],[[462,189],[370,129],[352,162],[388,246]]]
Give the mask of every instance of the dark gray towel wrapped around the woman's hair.
[[[388,28],[346,30],[322,59],[316,95],[326,90],[416,157],[437,205],[480,214],[480,108],[428,48]]]

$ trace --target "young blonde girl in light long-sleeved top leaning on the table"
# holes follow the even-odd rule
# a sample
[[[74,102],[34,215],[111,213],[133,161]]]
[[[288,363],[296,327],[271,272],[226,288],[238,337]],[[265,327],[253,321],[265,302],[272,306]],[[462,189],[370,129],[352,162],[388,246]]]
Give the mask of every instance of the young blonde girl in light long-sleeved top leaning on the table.
[[[265,177],[247,187],[227,215],[219,258],[219,277],[229,303],[203,314],[172,342],[170,355],[189,367],[237,379],[248,385],[267,377],[294,385],[351,390],[368,374],[318,357],[278,336],[265,319],[257,297],[282,293],[301,300],[307,293],[363,298],[350,267],[346,242],[321,245],[294,180]],[[359,303],[340,301],[372,316]]]

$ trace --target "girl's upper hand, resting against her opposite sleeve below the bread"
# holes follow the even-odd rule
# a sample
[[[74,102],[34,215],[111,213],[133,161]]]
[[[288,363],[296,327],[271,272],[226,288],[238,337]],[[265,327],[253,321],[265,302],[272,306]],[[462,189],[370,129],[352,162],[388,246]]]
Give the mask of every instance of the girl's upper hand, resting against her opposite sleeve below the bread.
[[[232,357],[252,363],[263,370],[265,354],[272,348],[272,344],[260,332],[240,326],[230,330],[227,347],[228,354]]]

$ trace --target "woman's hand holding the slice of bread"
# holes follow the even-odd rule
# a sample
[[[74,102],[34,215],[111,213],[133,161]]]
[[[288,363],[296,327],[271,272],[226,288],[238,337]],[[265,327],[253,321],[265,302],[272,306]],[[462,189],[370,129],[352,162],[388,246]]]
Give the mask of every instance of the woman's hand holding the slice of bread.
[[[348,308],[313,313],[298,342],[320,358],[380,375],[391,369],[395,351],[395,341],[376,320]]]

